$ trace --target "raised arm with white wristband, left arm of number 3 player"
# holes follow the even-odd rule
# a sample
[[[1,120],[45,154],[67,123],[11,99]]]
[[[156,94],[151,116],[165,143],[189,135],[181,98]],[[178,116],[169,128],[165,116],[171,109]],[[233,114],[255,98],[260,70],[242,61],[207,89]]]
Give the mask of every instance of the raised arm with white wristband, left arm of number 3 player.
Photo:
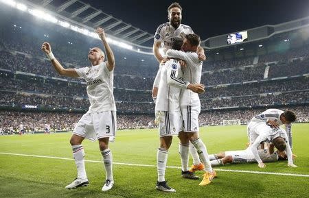
[[[63,66],[56,60],[54,54],[52,53],[52,47],[48,42],[43,42],[43,45],[41,47],[42,51],[44,51],[49,58],[50,62],[52,62],[52,65],[54,66],[54,69],[60,74],[67,77],[80,77],[78,73],[76,73],[75,69],[65,69]]]

